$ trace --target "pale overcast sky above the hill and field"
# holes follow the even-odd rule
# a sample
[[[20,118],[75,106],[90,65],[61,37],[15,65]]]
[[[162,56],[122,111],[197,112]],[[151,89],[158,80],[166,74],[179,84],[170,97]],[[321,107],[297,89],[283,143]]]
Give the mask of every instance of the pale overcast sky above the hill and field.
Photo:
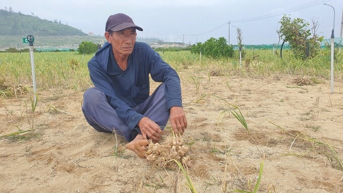
[[[283,15],[304,19],[310,27],[312,20],[318,22],[317,34],[325,39],[333,27],[334,36],[340,37],[343,15],[343,0],[0,0],[0,9],[10,7],[98,35],[104,34],[108,16],[124,13],[143,28],[138,37],[187,44],[211,37],[237,44],[237,28],[243,44],[277,43]]]

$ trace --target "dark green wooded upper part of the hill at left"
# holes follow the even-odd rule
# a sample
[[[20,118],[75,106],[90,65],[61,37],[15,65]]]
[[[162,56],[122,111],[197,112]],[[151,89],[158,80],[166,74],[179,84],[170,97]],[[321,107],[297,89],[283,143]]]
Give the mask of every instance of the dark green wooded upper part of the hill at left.
[[[74,27],[61,22],[42,20],[38,16],[15,13],[10,9],[0,10],[0,35],[1,36],[86,36],[87,34]]]

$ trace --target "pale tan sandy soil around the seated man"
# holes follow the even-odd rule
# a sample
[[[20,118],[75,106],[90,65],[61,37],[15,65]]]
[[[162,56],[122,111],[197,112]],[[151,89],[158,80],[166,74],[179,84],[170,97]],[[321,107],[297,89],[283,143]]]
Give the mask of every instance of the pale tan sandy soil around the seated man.
[[[343,83],[330,94],[324,79],[298,86],[295,77],[189,71],[180,73],[184,139],[197,192],[251,191],[261,162],[259,192],[343,192]],[[0,138],[0,192],[190,192],[182,172],[155,167],[126,150],[124,138],[94,131],[82,94],[40,90],[34,113],[25,93],[0,99],[1,136],[33,128]]]

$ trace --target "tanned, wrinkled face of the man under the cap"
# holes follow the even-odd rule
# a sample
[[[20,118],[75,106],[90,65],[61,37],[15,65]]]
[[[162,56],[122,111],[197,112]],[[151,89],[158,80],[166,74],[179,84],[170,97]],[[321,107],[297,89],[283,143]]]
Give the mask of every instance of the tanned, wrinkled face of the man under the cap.
[[[136,42],[136,28],[126,28],[121,31],[112,32],[110,35],[105,32],[105,37],[112,44],[113,53],[120,55],[130,55]]]

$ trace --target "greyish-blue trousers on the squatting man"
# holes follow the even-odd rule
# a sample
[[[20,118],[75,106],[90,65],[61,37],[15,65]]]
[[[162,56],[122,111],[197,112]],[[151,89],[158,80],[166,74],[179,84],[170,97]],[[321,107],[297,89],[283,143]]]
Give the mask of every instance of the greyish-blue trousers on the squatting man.
[[[162,83],[157,89],[141,104],[131,107],[138,113],[155,121],[161,127],[165,127],[169,119],[169,111],[166,106],[165,85]],[[105,94],[98,88],[92,87],[83,94],[82,112],[87,122],[98,132],[113,133],[113,130],[124,136],[126,141],[132,141],[137,134],[141,134],[139,127],[129,128],[128,125],[118,116],[105,97]]]

